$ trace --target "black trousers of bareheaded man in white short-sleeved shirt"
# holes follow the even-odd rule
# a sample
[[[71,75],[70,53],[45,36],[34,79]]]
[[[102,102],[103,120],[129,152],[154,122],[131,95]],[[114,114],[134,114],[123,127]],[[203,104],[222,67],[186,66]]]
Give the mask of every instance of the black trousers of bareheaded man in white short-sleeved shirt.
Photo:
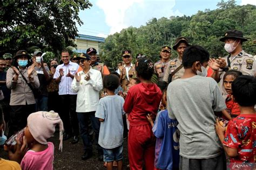
[[[79,124],[76,113],[77,95],[59,95],[60,112],[66,134],[78,136]]]

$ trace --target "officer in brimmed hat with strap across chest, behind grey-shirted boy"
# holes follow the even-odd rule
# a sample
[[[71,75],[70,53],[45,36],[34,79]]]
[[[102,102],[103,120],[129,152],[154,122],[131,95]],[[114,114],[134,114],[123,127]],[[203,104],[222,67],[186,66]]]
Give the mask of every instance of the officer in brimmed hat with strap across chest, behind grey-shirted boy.
[[[171,60],[166,68],[164,74],[164,81],[170,83],[173,80],[179,79],[184,74],[184,68],[182,65],[183,52],[185,48],[189,46],[188,40],[185,37],[179,37],[176,39],[174,46],[172,47],[179,54],[178,58]],[[171,75],[171,77],[170,77]]]

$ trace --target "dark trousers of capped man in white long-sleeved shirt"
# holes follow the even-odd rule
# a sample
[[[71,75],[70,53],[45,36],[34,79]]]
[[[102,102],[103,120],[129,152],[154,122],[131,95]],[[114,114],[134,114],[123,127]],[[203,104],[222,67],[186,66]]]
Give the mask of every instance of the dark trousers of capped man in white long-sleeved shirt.
[[[91,112],[77,112],[77,118],[80,126],[80,136],[83,139],[84,143],[84,151],[92,150],[92,141],[89,135],[89,128],[88,128],[88,119],[91,119],[92,128],[95,132],[95,142],[98,149],[98,153],[102,154],[102,147],[98,144],[99,139],[99,128],[100,128],[100,122],[99,119],[95,117],[95,111]]]

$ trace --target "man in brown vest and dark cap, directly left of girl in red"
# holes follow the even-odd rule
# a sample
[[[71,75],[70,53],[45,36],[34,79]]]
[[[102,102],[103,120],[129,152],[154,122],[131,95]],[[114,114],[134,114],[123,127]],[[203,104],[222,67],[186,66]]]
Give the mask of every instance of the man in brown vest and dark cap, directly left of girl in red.
[[[117,73],[120,74],[120,83],[124,91],[127,91],[127,86],[132,78],[136,77],[135,65],[132,64],[132,54],[130,50],[122,52],[124,65],[120,66]]]

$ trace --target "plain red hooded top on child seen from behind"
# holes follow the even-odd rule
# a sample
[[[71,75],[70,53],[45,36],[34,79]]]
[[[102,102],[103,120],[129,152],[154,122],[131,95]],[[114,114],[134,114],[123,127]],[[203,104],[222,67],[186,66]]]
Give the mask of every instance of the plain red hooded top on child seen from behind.
[[[149,124],[146,115],[157,115],[162,93],[155,83],[139,83],[131,87],[124,102],[124,111],[128,115],[130,126]]]

